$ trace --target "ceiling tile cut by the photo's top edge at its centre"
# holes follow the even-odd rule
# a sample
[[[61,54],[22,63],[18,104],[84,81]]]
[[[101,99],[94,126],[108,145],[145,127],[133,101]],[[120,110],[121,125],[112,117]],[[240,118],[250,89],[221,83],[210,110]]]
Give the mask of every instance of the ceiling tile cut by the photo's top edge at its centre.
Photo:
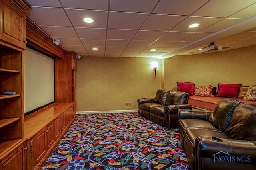
[[[152,12],[158,0],[111,0],[111,11],[124,11],[124,12]]]

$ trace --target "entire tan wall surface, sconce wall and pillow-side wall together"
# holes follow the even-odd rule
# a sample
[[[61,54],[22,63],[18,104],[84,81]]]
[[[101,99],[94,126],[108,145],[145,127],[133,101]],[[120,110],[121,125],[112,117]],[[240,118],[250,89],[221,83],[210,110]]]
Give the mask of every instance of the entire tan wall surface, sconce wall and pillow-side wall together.
[[[160,64],[156,71],[151,61]],[[76,60],[76,111],[112,111],[137,109],[137,99],[154,97],[160,88],[177,87],[176,82],[196,85],[256,84],[256,46],[152,58],[81,57]],[[162,76],[164,74],[164,76]],[[132,107],[124,107],[132,102]]]

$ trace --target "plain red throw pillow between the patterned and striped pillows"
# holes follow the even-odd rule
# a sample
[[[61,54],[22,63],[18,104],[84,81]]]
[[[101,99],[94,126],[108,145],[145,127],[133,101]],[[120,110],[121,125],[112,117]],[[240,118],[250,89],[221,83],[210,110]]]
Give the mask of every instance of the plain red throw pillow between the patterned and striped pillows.
[[[218,84],[218,97],[238,98],[241,84]]]

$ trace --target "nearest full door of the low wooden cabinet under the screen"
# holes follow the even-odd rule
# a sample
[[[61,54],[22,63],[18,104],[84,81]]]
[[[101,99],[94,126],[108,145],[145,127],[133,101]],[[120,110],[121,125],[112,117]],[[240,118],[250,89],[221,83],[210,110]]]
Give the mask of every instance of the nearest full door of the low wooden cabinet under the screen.
[[[34,137],[34,165],[38,164],[46,154],[45,131],[46,127]]]

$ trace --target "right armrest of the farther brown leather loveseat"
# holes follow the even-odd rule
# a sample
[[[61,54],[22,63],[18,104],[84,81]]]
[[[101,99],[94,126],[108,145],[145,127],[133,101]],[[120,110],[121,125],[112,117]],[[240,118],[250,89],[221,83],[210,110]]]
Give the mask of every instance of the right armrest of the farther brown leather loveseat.
[[[189,104],[167,105],[164,107],[164,127],[178,128],[178,110],[192,109]]]

